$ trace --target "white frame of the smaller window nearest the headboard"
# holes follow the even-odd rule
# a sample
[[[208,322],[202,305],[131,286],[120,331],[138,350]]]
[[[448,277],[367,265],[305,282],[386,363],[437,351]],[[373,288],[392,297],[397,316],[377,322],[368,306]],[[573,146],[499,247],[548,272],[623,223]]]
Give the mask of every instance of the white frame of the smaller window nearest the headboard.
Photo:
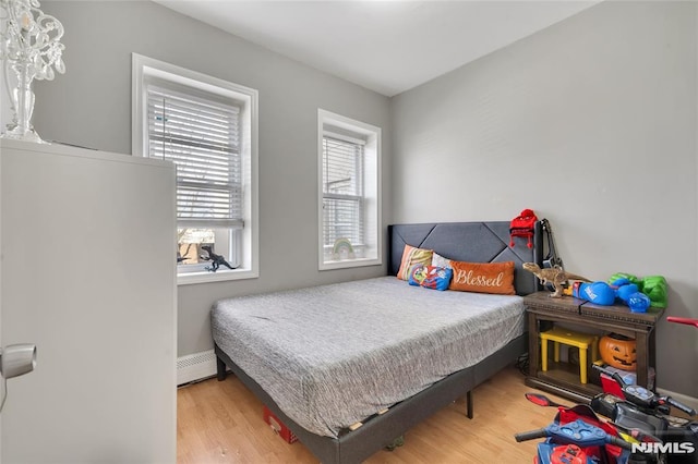
[[[317,110],[317,222],[318,222],[318,270],[345,269],[383,265],[382,200],[381,200],[381,127],[357,121],[323,109]],[[369,257],[325,260],[324,244],[324,138],[344,139],[363,145],[363,185],[361,202],[363,209],[363,241]]]

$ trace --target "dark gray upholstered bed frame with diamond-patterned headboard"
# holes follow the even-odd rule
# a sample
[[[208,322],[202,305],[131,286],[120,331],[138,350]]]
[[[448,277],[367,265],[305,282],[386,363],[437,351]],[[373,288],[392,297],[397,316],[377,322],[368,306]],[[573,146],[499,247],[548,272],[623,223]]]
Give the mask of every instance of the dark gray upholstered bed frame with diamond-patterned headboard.
[[[433,249],[442,256],[461,261],[514,261],[517,294],[526,295],[539,290],[535,277],[521,269],[524,262],[540,265],[542,261],[540,223],[537,223],[534,232],[533,247],[529,248],[527,241],[518,237],[515,239],[515,246],[509,247],[508,221],[388,225],[388,273],[397,274],[405,245],[412,245]],[[229,368],[322,463],[344,464],[365,460],[393,443],[412,426],[464,395],[467,395],[468,417],[472,417],[472,389],[514,363],[526,353],[527,347],[528,339],[525,333],[474,366],[449,375],[338,438],[318,436],[299,426],[218,345],[215,345],[215,352],[218,380],[226,379]]]

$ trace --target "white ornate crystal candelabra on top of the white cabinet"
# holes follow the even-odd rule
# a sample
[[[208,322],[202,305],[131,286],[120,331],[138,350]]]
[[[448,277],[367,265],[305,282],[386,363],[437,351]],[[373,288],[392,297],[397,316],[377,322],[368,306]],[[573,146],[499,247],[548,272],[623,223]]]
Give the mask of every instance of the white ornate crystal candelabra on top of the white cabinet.
[[[63,25],[39,7],[37,0],[0,0],[0,59],[14,111],[13,121],[0,135],[3,138],[43,143],[32,125],[32,83],[53,80],[53,68],[65,72],[61,58],[65,47],[60,42]],[[14,88],[11,77],[16,82]]]

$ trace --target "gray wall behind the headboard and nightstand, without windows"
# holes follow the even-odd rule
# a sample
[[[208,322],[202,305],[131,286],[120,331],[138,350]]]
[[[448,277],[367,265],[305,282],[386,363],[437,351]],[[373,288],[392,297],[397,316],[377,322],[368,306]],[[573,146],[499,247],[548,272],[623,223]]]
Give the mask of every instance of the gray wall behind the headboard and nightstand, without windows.
[[[662,274],[698,317],[696,20],[604,2],[395,97],[393,219],[532,208],[567,270]],[[698,396],[697,335],[659,322],[659,387]]]

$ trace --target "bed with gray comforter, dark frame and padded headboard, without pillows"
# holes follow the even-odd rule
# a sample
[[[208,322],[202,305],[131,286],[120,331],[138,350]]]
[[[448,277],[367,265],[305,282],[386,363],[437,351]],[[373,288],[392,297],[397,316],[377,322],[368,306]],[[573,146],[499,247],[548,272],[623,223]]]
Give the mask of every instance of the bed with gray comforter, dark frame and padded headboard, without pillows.
[[[526,352],[521,298],[395,276],[411,245],[514,261],[517,294],[537,291],[521,265],[541,262],[540,224],[532,247],[509,241],[508,221],[390,225],[387,277],[219,301],[218,379],[229,368],[323,463],[361,462],[464,395],[471,416],[471,390]]]

